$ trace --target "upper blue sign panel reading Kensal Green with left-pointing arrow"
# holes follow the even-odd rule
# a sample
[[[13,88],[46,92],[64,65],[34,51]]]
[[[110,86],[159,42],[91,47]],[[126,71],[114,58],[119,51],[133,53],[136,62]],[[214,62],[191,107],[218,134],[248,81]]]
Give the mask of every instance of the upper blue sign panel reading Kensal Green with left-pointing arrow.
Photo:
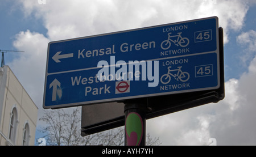
[[[47,73],[97,67],[101,60],[155,60],[217,50],[217,17],[48,44]]]

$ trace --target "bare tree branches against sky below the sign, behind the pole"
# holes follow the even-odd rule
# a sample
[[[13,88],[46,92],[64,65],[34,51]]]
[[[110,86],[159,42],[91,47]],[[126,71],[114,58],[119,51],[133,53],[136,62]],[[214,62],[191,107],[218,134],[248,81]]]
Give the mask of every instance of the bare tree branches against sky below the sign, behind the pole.
[[[39,119],[47,124],[40,129],[42,133],[47,133],[47,145],[124,145],[124,126],[81,137],[81,108],[76,107],[69,112],[64,109],[46,110],[44,116]],[[149,134],[146,139],[149,146],[161,144],[159,138],[152,139]]]

